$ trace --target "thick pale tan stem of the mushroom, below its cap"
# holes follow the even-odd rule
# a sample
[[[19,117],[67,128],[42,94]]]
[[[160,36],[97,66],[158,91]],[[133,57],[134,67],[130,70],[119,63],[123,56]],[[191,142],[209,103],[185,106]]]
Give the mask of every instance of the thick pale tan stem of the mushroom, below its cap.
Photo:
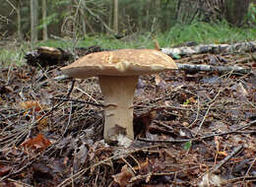
[[[133,99],[139,76],[99,76],[104,95],[104,140],[117,141],[118,135],[134,140]]]

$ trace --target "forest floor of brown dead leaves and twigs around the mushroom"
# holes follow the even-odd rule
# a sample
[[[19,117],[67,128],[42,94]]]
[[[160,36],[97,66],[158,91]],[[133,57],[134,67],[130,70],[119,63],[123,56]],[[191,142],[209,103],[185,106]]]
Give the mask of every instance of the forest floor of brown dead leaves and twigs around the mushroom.
[[[253,68],[255,54],[189,58]],[[2,69],[0,186],[256,186],[255,69],[140,77],[122,148],[102,141],[97,79],[72,87],[59,68]]]

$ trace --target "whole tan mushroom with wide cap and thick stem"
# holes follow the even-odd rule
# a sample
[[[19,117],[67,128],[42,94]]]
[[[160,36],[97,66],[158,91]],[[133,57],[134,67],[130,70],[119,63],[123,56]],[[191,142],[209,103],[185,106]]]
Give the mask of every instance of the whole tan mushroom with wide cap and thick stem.
[[[105,142],[118,141],[119,135],[134,140],[133,99],[140,75],[177,69],[174,61],[155,49],[118,49],[88,54],[61,68],[69,77],[98,76],[104,96]]]

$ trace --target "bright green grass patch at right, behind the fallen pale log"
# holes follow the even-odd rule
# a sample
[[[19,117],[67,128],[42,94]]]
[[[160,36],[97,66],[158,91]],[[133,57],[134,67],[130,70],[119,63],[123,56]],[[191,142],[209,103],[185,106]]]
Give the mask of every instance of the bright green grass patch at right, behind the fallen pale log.
[[[197,43],[233,43],[242,40],[254,40],[256,31],[230,27],[226,22],[175,25],[169,31],[158,35],[160,46],[182,44],[187,41]]]

